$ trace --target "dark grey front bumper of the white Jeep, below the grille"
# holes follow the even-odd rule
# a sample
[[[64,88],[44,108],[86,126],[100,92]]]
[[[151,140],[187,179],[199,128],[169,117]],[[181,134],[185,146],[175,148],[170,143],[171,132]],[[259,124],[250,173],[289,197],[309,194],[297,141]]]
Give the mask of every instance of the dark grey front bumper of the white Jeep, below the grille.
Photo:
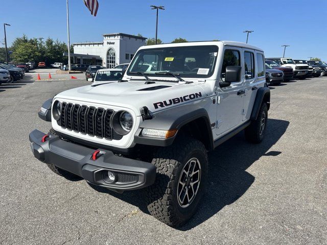
[[[54,135],[42,142],[43,136],[45,134],[38,130],[33,130],[29,135],[34,157],[78,175],[87,182],[119,192],[144,188],[154,183],[156,168],[151,163],[119,157],[102,149],[98,149],[99,157],[92,160],[96,151],[94,149],[64,141]],[[109,183],[108,171],[114,173],[115,182]]]

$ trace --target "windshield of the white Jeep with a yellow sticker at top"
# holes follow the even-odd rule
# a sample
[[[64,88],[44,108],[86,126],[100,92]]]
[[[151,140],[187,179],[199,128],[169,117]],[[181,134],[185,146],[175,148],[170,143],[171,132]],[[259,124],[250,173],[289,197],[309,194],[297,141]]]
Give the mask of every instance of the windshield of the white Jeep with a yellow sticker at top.
[[[153,77],[162,77],[155,73],[171,72],[185,78],[208,78],[214,73],[217,53],[215,45],[148,48],[137,52],[127,75],[146,72]]]

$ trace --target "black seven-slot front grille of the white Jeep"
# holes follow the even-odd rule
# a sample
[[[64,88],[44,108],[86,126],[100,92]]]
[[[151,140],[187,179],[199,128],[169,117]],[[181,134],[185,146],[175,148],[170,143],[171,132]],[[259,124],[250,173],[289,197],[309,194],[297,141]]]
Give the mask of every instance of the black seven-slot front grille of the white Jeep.
[[[58,124],[64,129],[74,130],[82,134],[108,140],[120,140],[123,136],[115,132],[111,127],[113,114],[114,111],[111,109],[105,110],[104,108],[63,102]]]

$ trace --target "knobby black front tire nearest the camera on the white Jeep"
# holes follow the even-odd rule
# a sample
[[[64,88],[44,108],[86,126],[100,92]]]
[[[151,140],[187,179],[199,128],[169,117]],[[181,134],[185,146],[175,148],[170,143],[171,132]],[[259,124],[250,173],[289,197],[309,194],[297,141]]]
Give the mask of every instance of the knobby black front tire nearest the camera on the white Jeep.
[[[193,201],[188,204],[189,206],[181,207],[177,197],[179,179],[184,173],[184,166],[195,158],[199,160],[201,166],[200,183]],[[144,200],[149,212],[171,227],[179,227],[186,223],[196,212],[205,192],[207,162],[205,146],[193,138],[180,137],[173,145],[160,148],[152,160],[157,169],[155,183],[144,189]]]

